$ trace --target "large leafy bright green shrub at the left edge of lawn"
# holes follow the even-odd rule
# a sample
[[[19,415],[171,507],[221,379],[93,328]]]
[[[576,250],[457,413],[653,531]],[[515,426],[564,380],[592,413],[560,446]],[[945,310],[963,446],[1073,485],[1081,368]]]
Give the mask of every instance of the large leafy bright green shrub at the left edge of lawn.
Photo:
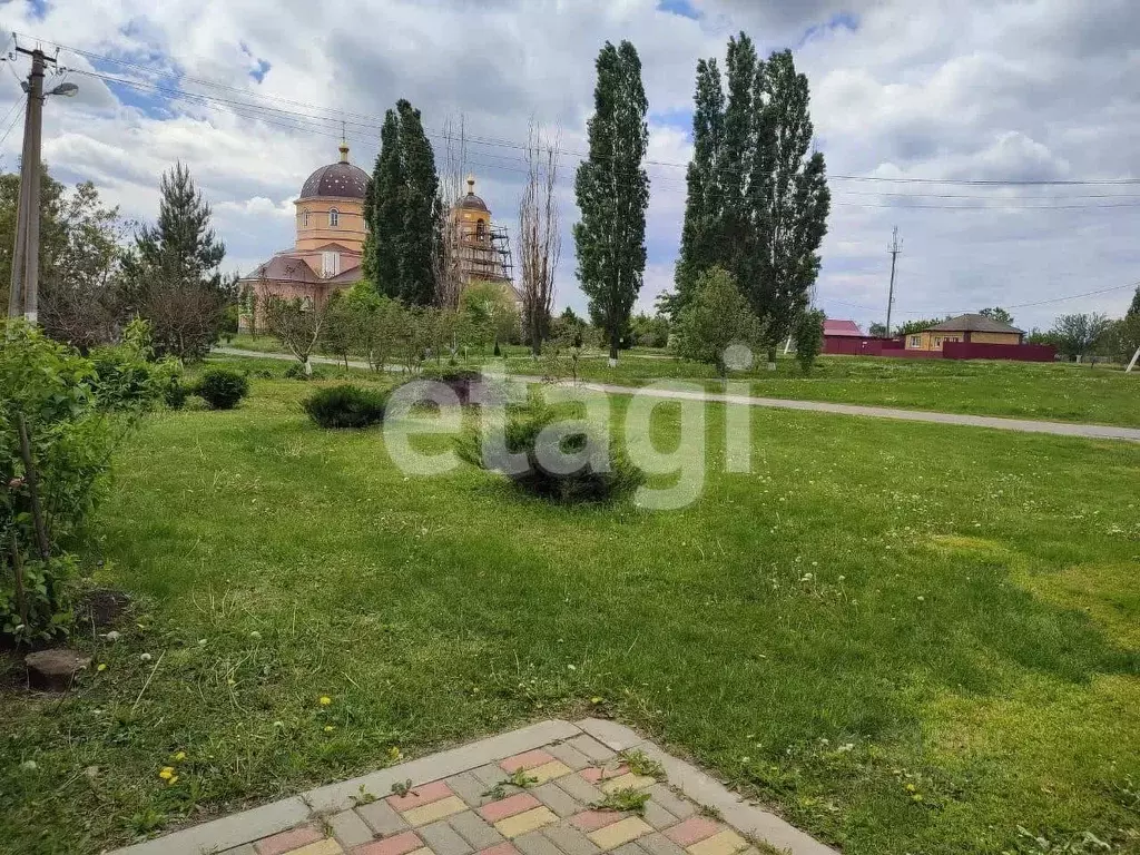
[[[95,365],[23,321],[0,325],[0,633],[21,641],[65,629],[66,547],[103,494],[131,407],[100,401]],[[46,549],[21,449],[23,417],[36,474]],[[16,551],[13,554],[13,545]],[[47,556],[44,556],[47,552]],[[22,580],[22,595],[16,579]]]

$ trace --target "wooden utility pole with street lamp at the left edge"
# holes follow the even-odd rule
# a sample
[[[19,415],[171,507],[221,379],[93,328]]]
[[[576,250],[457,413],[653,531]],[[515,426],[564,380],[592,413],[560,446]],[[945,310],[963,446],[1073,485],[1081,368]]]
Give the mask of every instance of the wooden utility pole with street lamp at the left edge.
[[[39,317],[40,300],[40,137],[43,130],[43,101],[47,95],[73,96],[74,83],[60,83],[43,92],[43,72],[56,64],[54,57],[35,48],[16,47],[16,52],[32,57],[32,71],[24,83],[24,153],[19,162],[19,202],[16,207],[16,246],[11,254],[11,291],[8,317],[23,316],[30,324]]]

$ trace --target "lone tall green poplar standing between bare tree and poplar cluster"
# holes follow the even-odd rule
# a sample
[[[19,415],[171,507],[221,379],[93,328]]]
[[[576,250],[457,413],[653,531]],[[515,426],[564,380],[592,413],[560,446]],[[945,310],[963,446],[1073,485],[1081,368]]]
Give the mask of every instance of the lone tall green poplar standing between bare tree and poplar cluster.
[[[612,363],[645,272],[649,176],[642,161],[649,147],[649,101],[641,59],[628,41],[617,48],[606,42],[596,68],[589,157],[575,179],[581,220],[573,238],[581,290],[609,341]]]

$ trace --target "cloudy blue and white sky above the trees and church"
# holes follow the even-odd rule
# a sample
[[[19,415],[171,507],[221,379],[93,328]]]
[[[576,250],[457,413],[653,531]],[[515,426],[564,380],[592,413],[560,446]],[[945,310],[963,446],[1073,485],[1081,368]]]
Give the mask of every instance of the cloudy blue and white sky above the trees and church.
[[[829,317],[885,319],[896,226],[896,324],[1004,306],[1019,327],[1045,328],[1062,312],[1123,314],[1140,280],[1140,182],[1118,184],[1140,178],[1134,0],[8,0],[0,28],[6,52],[11,33],[63,46],[80,85],[46,104],[52,174],[91,180],[123,217],[148,220],[163,170],[182,161],[213,205],[228,270],[292,245],[293,201],[336,160],[342,121],[370,171],[384,111],[408,98],[441,166],[445,128],[462,117],[466,169],[512,230],[520,146],[532,123],[557,137],[555,302],[583,310],[573,170],[597,51],[628,39],[650,104],[637,308],[651,310],[673,285],[697,60],[723,67],[744,31],[762,54],[791,48],[808,76],[833,198],[816,288]],[[0,166],[14,170],[27,62],[6,64]],[[1105,293],[1057,300],[1088,292]]]

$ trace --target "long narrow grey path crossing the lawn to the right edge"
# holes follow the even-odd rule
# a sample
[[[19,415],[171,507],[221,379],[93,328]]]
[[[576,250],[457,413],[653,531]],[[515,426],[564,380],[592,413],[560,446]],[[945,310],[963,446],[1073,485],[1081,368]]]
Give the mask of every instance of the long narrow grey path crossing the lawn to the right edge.
[[[267,359],[294,360],[294,357],[285,353],[261,353],[253,350],[239,350],[237,348],[215,348],[218,353],[242,357],[263,357]],[[335,359],[325,357],[312,357],[314,363],[324,365],[343,365]],[[355,363],[349,360],[352,368],[368,368],[367,363]],[[539,377],[520,376],[518,380],[527,382],[538,382]],[[904,422],[935,422],[937,424],[954,424],[969,427],[993,427],[1000,431],[1018,431],[1021,433],[1051,433],[1058,437],[1084,437],[1088,439],[1123,439],[1132,442],[1140,442],[1140,429],[1117,427],[1102,424],[1080,424],[1070,422],[1041,422],[1027,418],[1003,418],[999,416],[969,416],[960,413],[931,413],[921,409],[897,409],[894,407],[866,407],[855,404],[831,404],[829,401],[800,401],[787,398],[758,398],[743,394],[725,394],[723,392],[692,392],[683,389],[638,389],[635,386],[617,385],[613,383],[589,383],[581,385],[598,392],[610,394],[642,394],[654,398],[670,398],[677,400],[701,400],[717,401],[722,404],[741,404],[749,407],[772,407],[775,409],[801,409],[813,413],[836,413],[847,416],[869,416],[871,418],[896,418]]]

